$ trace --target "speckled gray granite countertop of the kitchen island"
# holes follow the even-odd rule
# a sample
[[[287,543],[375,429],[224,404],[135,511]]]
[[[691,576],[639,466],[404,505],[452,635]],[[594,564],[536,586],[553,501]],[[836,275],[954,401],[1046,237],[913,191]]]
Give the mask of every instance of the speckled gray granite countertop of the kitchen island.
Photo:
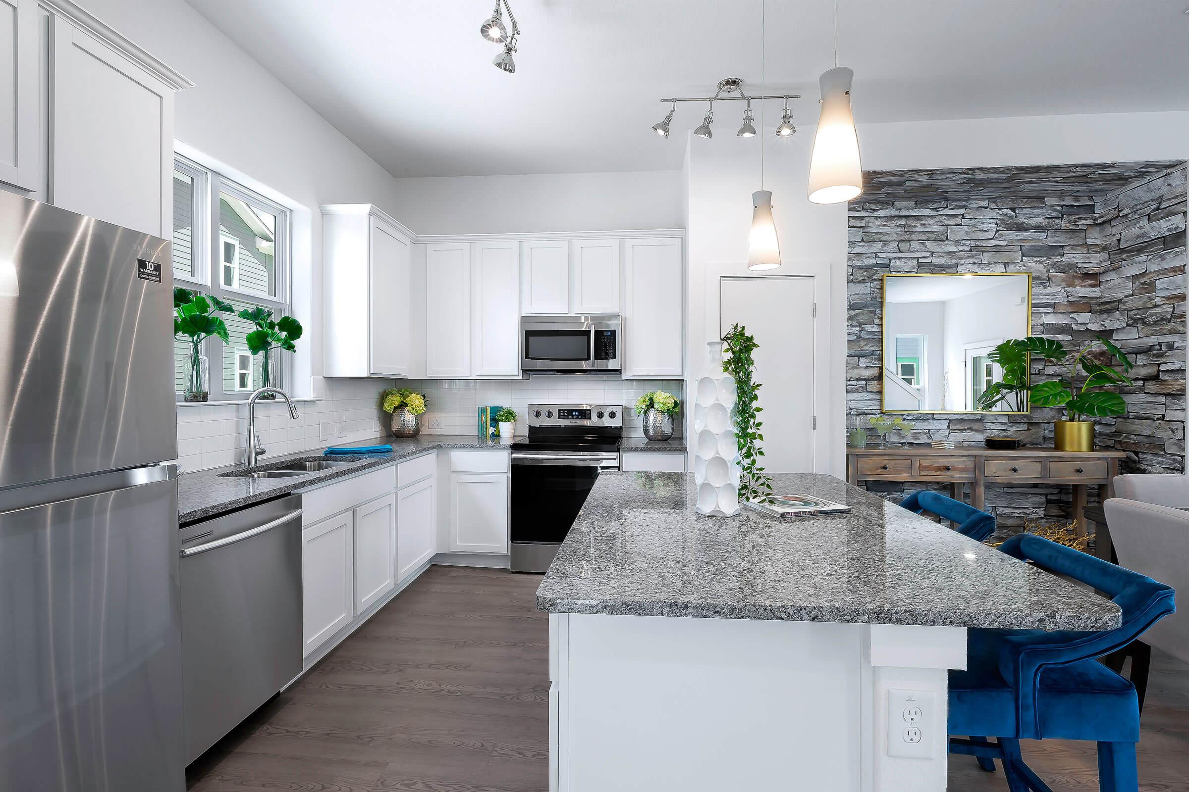
[[[1111,629],[1119,607],[833,476],[778,474],[849,514],[694,512],[693,474],[599,476],[536,593],[555,613]]]

